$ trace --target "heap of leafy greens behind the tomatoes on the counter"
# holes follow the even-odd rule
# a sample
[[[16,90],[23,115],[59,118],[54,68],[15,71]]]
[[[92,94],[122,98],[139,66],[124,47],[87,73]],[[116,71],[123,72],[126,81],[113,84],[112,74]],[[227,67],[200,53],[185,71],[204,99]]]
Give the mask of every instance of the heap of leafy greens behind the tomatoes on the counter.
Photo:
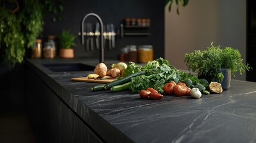
[[[130,67],[129,67],[130,66]],[[137,68],[135,68],[137,67]],[[156,89],[159,93],[164,93],[164,85],[170,81],[178,82],[181,80],[186,83],[190,88],[196,87],[205,91],[206,86],[209,85],[205,83],[205,80],[199,80],[198,77],[185,73],[183,71],[175,69],[169,65],[168,60],[159,58],[158,60],[148,62],[144,67],[136,66],[134,63],[128,65],[125,70],[126,73],[132,73],[135,70],[145,70],[146,74],[141,76],[132,77],[131,79],[131,91],[139,92],[142,89],[147,89],[149,87]],[[204,84],[202,85],[201,82]]]

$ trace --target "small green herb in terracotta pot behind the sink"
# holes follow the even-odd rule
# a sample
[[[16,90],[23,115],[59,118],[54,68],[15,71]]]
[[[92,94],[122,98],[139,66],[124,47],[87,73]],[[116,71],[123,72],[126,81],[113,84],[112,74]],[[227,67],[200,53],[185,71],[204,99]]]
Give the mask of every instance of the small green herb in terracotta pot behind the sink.
[[[60,57],[61,58],[73,58],[74,51],[72,46],[76,46],[74,43],[76,36],[69,30],[63,30],[59,36],[60,40]]]

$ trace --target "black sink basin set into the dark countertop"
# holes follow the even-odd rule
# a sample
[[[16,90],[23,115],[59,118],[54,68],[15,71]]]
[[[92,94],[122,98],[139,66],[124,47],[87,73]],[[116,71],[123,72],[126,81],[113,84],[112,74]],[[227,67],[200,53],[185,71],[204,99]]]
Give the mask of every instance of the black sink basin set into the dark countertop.
[[[88,66],[81,63],[51,63],[51,64],[42,64],[42,66],[53,72],[60,71],[88,71],[94,70],[95,67]]]

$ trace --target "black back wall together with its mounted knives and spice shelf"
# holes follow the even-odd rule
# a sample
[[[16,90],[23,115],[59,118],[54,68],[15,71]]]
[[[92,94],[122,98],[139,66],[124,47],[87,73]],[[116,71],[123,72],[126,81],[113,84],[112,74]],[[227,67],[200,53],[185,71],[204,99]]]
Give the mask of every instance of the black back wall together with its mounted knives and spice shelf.
[[[97,36],[91,36],[93,40],[89,45],[82,45],[79,37],[82,18],[88,13],[95,13],[101,17],[105,27],[105,58],[117,60],[121,49],[127,45],[152,45],[154,58],[164,57],[164,5],[164,2],[156,0],[66,1],[62,21],[53,23],[51,17],[46,16],[42,39],[46,39],[48,35],[58,36],[61,30],[68,29],[78,35],[75,39],[76,46],[73,47],[75,57],[97,58],[99,56],[98,43],[95,40]],[[126,23],[128,19],[130,26]],[[91,17],[85,21],[85,26],[95,34],[96,23],[97,20]],[[113,39],[107,37],[111,32],[115,33],[114,43],[110,42]],[[56,42],[58,43],[58,40]]]

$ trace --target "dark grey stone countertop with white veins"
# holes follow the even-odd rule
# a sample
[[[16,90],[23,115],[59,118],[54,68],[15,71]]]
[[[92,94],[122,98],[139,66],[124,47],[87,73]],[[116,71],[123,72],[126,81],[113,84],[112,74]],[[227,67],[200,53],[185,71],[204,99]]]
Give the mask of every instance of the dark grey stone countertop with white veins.
[[[40,66],[45,62],[53,61],[26,64],[106,142],[256,142],[254,82],[232,79],[221,94],[153,101],[130,91],[91,91],[97,83],[70,79],[92,71],[54,73]]]

